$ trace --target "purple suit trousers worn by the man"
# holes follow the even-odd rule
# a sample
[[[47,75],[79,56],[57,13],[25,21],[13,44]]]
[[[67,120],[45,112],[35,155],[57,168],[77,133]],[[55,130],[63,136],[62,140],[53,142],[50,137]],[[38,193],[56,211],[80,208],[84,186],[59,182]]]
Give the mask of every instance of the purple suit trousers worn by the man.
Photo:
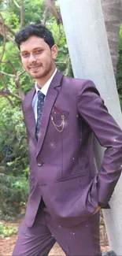
[[[68,256],[101,256],[99,214],[76,226],[64,228],[50,217],[46,208],[39,207],[31,228],[25,219],[20,224],[13,256],[46,256],[56,241]]]

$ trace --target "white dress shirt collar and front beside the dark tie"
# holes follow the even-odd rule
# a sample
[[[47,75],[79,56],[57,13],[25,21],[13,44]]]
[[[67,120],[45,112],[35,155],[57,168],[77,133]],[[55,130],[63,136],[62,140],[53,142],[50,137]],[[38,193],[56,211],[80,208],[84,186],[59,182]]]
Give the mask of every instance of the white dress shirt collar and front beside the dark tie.
[[[37,97],[37,93],[38,91],[42,91],[43,92],[43,95],[45,95],[45,98],[46,98],[46,95],[47,95],[47,91],[50,87],[50,83],[52,82],[53,78],[54,78],[54,75],[56,74],[57,72],[57,69],[55,69],[53,75],[50,77],[50,79],[43,85],[43,87],[40,89],[38,84],[35,83],[35,95],[34,95],[34,98],[32,99],[32,108],[34,110],[34,114],[35,114],[35,124],[37,122],[37,102],[38,102],[38,97]]]

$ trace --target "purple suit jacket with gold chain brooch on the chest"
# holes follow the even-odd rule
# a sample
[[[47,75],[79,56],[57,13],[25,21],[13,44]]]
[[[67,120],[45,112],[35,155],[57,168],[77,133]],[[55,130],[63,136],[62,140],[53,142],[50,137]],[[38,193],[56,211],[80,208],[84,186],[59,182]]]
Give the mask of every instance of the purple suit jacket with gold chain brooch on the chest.
[[[57,71],[46,95],[37,142],[31,106],[34,95],[32,88],[23,102],[30,150],[25,221],[28,227],[32,226],[43,196],[55,221],[70,227],[90,217],[98,202],[109,202],[122,169],[122,132],[91,80],[65,77]],[[58,132],[62,130],[62,117],[65,126]],[[94,135],[105,147],[98,174]]]

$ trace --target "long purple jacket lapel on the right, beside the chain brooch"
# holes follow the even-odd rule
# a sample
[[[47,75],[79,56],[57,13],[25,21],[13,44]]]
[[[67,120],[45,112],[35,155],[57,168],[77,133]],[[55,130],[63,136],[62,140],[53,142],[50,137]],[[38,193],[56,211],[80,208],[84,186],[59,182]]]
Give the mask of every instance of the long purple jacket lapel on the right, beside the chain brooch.
[[[43,141],[44,141],[44,138],[46,135],[46,129],[47,129],[49,118],[50,118],[50,112],[54,106],[54,102],[56,101],[58,91],[59,91],[57,89],[57,87],[61,86],[62,77],[63,77],[63,74],[61,72],[57,71],[56,75],[54,76],[54,79],[50,83],[50,87],[49,87],[47,95],[46,95],[46,100],[44,102],[43,113],[42,113],[42,117],[41,117],[36,157],[38,156],[39,151],[41,150],[41,148],[43,146]]]

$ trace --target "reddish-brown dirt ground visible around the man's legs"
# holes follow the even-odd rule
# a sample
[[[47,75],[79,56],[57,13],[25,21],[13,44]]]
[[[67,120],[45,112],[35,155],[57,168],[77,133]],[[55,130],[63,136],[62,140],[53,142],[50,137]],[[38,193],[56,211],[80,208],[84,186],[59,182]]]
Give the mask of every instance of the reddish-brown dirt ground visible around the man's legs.
[[[5,221],[2,221],[5,223]],[[20,224],[20,221],[17,221],[16,223],[7,222],[6,224],[11,225],[13,227],[17,227]],[[105,232],[105,226],[102,224],[100,226],[100,237],[101,237],[101,249],[102,251],[109,250],[108,246],[108,239]],[[10,237],[1,238],[0,237],[0,256],[11,256],[13,252],[14,244],[16,243],[17,235],[13,235]],[[52,250],[50,250],[50,256],[65,256],[65,253],[63,250],[61,250],[61,247],[57,243],[55,243]]]

